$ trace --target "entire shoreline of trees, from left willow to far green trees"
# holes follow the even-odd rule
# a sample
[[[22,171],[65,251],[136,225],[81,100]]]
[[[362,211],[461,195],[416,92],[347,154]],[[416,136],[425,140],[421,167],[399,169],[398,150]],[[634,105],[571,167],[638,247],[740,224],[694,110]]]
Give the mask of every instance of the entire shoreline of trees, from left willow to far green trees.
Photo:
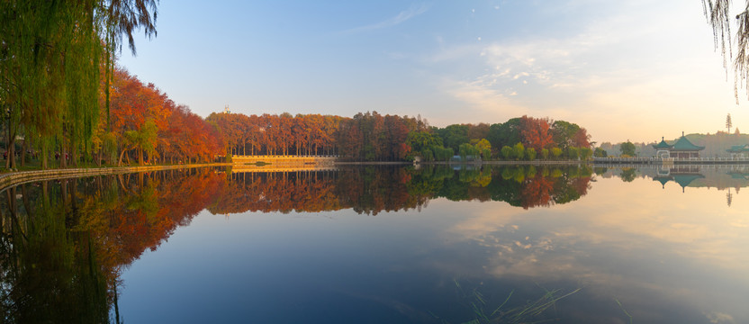
[[[591,155],[587,131],[522,116],[429,126],[360,112],[212,113],[203,118],[117,64],[134,31],[156,35],[154,0],[0,3],[0,149],[5,170],[208,163],[238,154],[341,161],[508,160]]]

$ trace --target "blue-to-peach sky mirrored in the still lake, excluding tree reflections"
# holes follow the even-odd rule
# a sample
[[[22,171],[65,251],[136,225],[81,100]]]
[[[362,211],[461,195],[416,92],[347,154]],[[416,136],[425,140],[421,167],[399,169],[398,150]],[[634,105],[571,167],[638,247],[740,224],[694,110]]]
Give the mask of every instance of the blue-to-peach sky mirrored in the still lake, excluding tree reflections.
[[[745,194],[729,207],[726,190],[594,179],[578,201],[529,210],[438,198],[377,216],[203,213],[123,275],[123,318],[472,320],[455,280],[497,304],[512,290],[522,303],[582,288],[546,311],[561,322],[749,319]],[[173,296],[178,315],[158,306]]]

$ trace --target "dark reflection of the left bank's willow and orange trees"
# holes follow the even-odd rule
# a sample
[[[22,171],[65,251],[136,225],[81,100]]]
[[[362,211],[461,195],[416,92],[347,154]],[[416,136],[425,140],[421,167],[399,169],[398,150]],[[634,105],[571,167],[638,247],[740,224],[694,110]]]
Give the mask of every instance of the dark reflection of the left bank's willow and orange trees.
[[[188,176],[189,175],[189,176]],[[107,322],[122,269],[214,200],[225,178],[162,172],[22,184],[2,194],[7,322]]]

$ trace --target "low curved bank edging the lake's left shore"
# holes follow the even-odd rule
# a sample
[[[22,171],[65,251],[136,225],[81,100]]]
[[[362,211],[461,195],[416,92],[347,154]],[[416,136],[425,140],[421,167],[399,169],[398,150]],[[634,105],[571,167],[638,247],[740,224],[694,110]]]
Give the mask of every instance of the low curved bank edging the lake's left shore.
[[[113,166],[113,167],[89,167],[89,168],[65,168],[38,171],[9,172],[0,175],[0,192],[18,185],[36,181],[67,179],[91,175],[120,175],[145,171],[173,170],[182,168],[194,168],[205,166],[232,166],[231,163],[206,163],[175,166]]]

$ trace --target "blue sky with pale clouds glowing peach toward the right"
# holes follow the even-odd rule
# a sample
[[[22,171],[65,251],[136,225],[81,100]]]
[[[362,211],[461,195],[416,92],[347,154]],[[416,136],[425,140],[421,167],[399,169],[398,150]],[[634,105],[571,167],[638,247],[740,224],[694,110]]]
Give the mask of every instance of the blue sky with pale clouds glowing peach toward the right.
[[[157,30],[120,64],[203,117],[528,114],[618,142],[714,133],[731,113],[749,131],[699,0],[162,0]]]

